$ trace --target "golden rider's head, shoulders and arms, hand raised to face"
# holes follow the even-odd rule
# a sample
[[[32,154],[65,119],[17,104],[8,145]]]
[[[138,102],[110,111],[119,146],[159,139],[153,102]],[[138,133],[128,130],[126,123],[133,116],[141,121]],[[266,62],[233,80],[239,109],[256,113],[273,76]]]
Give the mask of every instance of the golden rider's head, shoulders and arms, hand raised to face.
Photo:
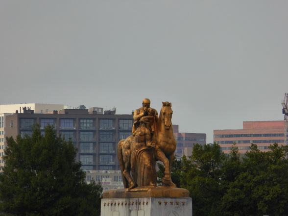
[[[149,130],[153,136],[155,124],[158,121],[158,112],[157,110],[150,108],[150,100],[148,98],[144,98],[142,102],[142,107],[134,111],[134,115],[133,115],[134,124],[133,124],[132,133],[139,127],[138,121],[142,117],[147,117],[147,119],[149,120],[151,120],[151,117],[154,119],[154,125],[151,125],[149,127]]]

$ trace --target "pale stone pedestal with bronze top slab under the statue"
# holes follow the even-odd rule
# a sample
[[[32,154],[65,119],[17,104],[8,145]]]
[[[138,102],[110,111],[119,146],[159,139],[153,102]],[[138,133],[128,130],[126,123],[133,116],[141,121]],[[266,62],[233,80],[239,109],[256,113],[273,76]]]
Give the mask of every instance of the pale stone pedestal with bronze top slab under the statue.
[[[186,189],[144,187],[103,193],[101,216],[192,216]]]

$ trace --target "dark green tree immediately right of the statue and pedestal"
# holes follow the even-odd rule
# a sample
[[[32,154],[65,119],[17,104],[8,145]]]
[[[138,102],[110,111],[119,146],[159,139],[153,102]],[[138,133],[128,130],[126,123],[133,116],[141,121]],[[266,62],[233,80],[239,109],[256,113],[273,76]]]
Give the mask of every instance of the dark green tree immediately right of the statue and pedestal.
[[[183,161],[185,171],[181,176],[181,187],[190,191],[193,215],[220,215],[218,208],[225,188],[221,167],[225,158],[216,143],[194,144],[190,160]]]

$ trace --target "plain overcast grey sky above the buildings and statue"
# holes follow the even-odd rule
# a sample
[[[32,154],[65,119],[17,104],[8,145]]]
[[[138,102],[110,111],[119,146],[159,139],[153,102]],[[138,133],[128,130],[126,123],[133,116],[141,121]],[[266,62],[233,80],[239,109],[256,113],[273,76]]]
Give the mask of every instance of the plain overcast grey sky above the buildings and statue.
[[[0,104],[130,114],[172,102],[180,132],[283,120],[287,0],[1,0]]]

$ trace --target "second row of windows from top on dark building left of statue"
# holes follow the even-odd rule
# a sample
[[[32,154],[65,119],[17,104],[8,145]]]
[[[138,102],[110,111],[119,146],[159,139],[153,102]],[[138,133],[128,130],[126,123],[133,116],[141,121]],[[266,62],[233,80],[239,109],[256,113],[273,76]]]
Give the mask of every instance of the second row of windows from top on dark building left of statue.
[[[41,132],[42,135],[44,135],[44,131]],[[75,140],[75,132],[74,131],[61,131],[61,135],[62,137],[64,137],[67,141],[68,140],[72,140],[72,141],[76,141]],[[80,131],[79,132],[79,141],[82,142],[96,142],[96,138],[95,138],[95,132],[94,131]],[[24,137],[25,135],[27,136],[32,136],[32,131],[25,131],[22,130],[21,131],[21,137]],[[119,140],[122,139],[126,139],[127,137],[129,137],[131,134],[131,132],[119,132]],[[115,137],[114,137],[114,133],[113,132],[105,132],[105,131],[101,131],[99,132],[99,141],[101,142],[116,142]]]

